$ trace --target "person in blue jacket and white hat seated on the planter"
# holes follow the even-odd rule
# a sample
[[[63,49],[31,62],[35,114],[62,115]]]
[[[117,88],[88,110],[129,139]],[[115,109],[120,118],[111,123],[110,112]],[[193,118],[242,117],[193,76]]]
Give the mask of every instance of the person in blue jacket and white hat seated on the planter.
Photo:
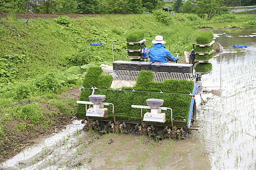
[[[179,58],[174,57],[169,50],[165,48],[163,44],[163,36],[156,36],[155,40],[152,41],[154,44],[149,50],[149,57],[151,62],[167,62],[167,61],[177,61]]]

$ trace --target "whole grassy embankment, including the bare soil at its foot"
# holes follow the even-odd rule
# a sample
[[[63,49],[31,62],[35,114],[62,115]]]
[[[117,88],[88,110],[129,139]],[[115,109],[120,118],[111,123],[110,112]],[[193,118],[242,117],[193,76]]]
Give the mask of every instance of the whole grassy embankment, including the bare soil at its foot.
[[[0,162],[22,150],[30,139],[51,132],[74,115],[75,99],[60,92],[82,84],[81,73],[89,65],[110,64],[111,46],[90,46],[91,42],[114,44],[115,60],[127,56],[125,35],[144,31],[146,45],[162,35],[171,53],[183,55],[192,49],[204,24],[213,28],[255,28],[255,15],[221,16],[211,22],[195,15],[177,14],[161,23],[161,16],[105,15],[76,19],[0,20]],[[212,23],[225,23],[221,24]],[[169,24],[169,25],[166,25]],[[211,26],[210,25],[210,26]],[[229,26],[231,25],[231,26]],[[209,27],[209,26],[207,26]],[[7,128],[9,127],[9,128]],[[10,128],[11,127],[11,128]],[[27,141],[24,139],[28,139]]]

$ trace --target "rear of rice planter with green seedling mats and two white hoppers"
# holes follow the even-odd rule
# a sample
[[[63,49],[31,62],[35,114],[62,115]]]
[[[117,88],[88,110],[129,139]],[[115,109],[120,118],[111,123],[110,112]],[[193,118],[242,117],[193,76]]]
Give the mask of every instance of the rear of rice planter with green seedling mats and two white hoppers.
[[[202,94],[203,86],[194,71],[195,57],[190,56],[190,60],[190,63],[114,61],[113,69],[102,68],[101,75],[95,78],[90,73],[88,81],[98,79],[99,83],[101,76],[108,75],[110,85],[102,87],[106,84],[104,79],[96,86],[91,83],[82,87],[77,117],[83,118],[85,129],[100,133],[184,138],[190,130],[201,131],[202,127],[195,126],[195,95]],[[144,73],[145,79],[148,73],[152,74],[148,84],[139,84],[144,79],[139,80],[142,70],[149,71]]]

